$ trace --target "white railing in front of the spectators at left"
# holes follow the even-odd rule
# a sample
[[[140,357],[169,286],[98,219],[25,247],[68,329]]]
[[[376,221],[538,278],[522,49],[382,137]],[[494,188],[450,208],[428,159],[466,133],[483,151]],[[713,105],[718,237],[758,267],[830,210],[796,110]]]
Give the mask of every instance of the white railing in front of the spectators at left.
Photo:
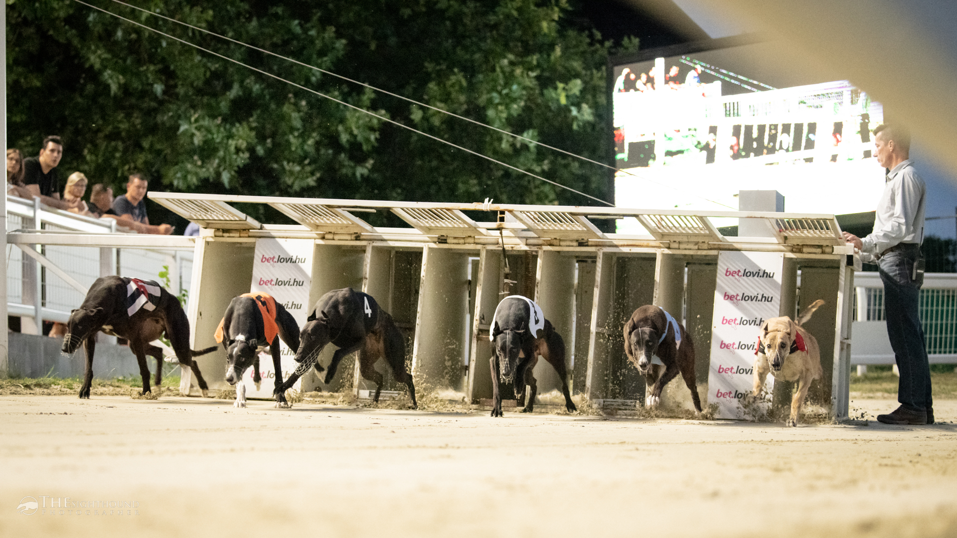
[[[70,310],[83,301],[85,291],[101,276],[122,275],[157,280],[163,266],[170,270],[169,291],[178,294],[189,290],[192,275],[192,251],[173,249],[130,248],[119,246],[75,246],[69,240],[74,234],[116,235],[116,220],[92,218],[40,205],[38,199],[26,200],[7,196],[7,232],[15,235],[67,238],[58,244],[7,245],[7,307],[11,316],[27,322],[24,332],[39,333],[36,318],[66,322]],[[38,239],[40,243],[42,239]],[[117,241],[126,243],[128,241]],[[33,249],[51,266],[44,266],[23,248]],[[72,282],[57,275],[64,273]],[[78,289],[80,288],[80,289]],[[39,302],[35,298],[39,298]]]

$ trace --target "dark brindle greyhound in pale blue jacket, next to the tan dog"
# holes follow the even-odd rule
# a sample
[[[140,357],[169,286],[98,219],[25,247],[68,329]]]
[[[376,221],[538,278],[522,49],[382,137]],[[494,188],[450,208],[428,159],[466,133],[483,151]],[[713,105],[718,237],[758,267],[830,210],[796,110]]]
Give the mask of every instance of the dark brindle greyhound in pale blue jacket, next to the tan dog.
[[[624,333],[625,354],[651,387],[645,395],[645,407],[656,407],[661,401],[661,390],[680,372],[691,391],[695,410],[701,413],[701,397],[695,382],[695,343],[684,326],[664,309],[646,304],[632,313]],[[660,359],[657,364],[656,356]]]

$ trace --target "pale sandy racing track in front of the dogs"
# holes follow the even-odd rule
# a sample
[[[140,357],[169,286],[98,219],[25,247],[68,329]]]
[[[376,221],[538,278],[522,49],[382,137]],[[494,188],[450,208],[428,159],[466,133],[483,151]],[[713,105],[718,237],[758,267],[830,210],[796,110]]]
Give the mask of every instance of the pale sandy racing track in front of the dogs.
[[[955,400],[799,428],[250,405],[0,396],[2,534],[957,535]]]

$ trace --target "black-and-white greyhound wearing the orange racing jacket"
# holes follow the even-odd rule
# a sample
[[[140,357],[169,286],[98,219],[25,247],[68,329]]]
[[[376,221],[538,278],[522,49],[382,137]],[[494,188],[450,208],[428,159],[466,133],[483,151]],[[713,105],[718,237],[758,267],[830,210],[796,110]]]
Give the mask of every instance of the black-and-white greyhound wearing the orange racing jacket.
[[[269,349],[273,355],[276,383],[273,395],[277,408],[289,407],[282,388],[282,366],[279,338],[290,349],[299,349],[299,324],[286,309],[265,293],[246,293],[234,297],[216,328],[216,342],[226,349],[226,382],[236,387],[233,407],[246,407],[246,385],[242,374],[253,367],[256,389],[259,375],[259,353]]]

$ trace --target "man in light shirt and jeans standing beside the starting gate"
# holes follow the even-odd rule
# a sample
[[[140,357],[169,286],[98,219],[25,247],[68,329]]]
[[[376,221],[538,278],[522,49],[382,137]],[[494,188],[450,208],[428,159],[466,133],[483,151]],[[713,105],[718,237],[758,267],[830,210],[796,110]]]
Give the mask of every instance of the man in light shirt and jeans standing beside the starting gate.
[[[888,168],[884,193],[880,196],[874,233],[864,238],[844,233],[864,255],[877,259],[884,283],[887,336],[901,381],[901,406],[889,415],[878,415],[885,424],[933,424],[930,396],[930,366],[924,346],[924,328],[918,316],[921,286],[924,284],[924,180],[909,159],[910,135],[898,125],[874,129],[878,164]]]

